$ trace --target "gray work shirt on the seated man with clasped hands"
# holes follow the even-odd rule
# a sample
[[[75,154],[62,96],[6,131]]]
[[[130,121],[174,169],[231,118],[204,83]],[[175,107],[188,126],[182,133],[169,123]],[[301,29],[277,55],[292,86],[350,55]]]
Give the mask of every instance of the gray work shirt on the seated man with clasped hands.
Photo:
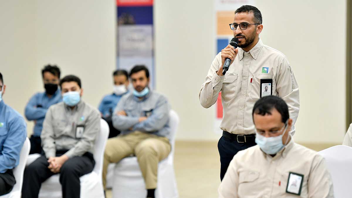
[[[74,109],[61,102],[50,106],[46,112],[40,138],[47,158],[55,157],[57,150],[68,150],[65,155],[71,158],[93,153],[99,132],[98,110],[83,101]]]

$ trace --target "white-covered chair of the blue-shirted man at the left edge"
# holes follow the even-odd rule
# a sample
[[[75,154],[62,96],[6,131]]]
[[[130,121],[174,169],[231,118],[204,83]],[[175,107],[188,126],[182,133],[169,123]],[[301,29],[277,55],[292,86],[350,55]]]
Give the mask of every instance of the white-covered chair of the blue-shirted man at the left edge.
[[[20,161],[18,166],[13,169],[13,176],[16,179],[16,184],[13,186],[12,191],[8,194],[0,196],[0,198],[20,198],[23,184],[23,172],[26,167],[26,161],[31,150],[31,143],[28,138],[24,141],[23,147],[20,152]]]

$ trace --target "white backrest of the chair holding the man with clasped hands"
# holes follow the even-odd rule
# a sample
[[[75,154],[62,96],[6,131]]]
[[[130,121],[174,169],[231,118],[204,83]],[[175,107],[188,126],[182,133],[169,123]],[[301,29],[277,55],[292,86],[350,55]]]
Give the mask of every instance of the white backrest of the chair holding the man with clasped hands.
[[[100,119],[100,133],[96,136],[95,147],[94,147],[94,160],[95,166],[93,172],[98,174],[99,177],[102,177],[102,167],[103,167],[103,158],[104,151],[106,146],[106,141],[109,136],[109,125],[105,120]]]

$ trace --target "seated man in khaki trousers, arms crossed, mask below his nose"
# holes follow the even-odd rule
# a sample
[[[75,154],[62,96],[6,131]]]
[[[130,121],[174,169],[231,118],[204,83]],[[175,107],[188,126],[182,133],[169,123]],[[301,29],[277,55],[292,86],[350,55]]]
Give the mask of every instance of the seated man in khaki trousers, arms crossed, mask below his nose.
[[[133,93],[124,95],[115,108],[113,125],[121,131],[106,144],[103,165],[103,185],[109,163],[136,155],[142,171],[147,197],[154,198],[157,187],[158,162],[171,150],[169,143],[170,107],[166,98],[149,90],[149,71],[145,66],[132,68],[130,78]]]

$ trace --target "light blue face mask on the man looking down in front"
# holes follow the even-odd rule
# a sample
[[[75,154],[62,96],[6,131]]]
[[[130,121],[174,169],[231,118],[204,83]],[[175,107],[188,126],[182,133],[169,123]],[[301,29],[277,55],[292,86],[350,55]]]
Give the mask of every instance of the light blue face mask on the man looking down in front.
[[[282,143],[282,136],[285,134],[288,127],[287,123],[285,125],[286,127],[284,129],[283,134],[276,137],[265,137],[258,134],[258,132],[256,131],[256,143],[264,153],[269,155],[274,155],[287,144],[287,141],[289,140],[289,136],[287,136],[285,145]]]

